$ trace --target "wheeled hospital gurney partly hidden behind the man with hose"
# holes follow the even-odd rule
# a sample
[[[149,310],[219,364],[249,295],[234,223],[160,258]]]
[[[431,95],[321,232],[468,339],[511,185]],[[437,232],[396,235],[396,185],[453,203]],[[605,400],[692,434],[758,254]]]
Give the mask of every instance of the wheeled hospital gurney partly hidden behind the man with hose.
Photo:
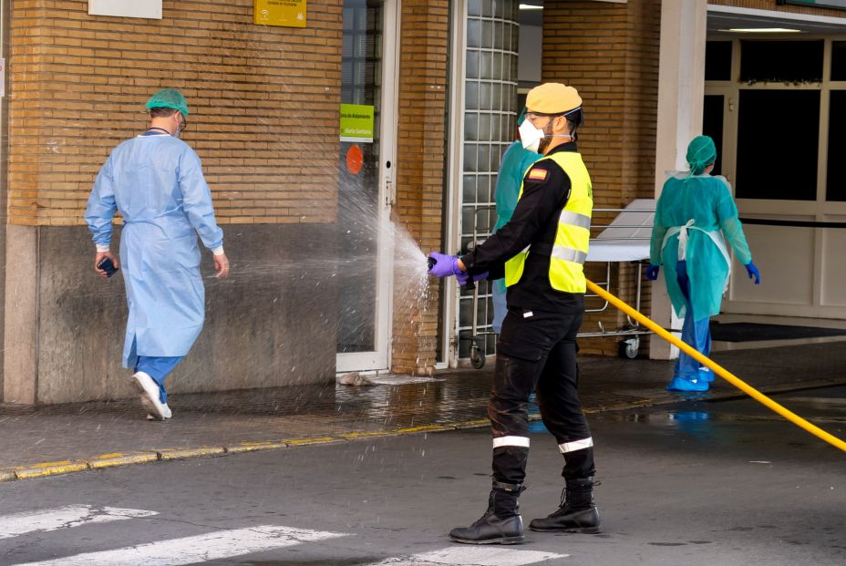
[[[490,235],[490,232],[480,233],[478,226],[480,224],[480,213],[485,213],[487,216],[490,211],[494,209],[493,206],[480,207],[473,213],[473,231],[472,242],[470,246],[475,247],[480,240],[484,240]],[[603,282],[596,284],[602,287],[605,291],[610,292],[611,289],[611,275],[613,263],[632,262],[637,266],[635,273],[635,310],[640,310],[641,293],[643,293],[643,265],[649,261],[649,242],[652,236],[652,224],[655,219],[655,199],[636,199],[628,204],[624,209],[593,209],[594,214],[598,212],[616,212],[617,216],[610,224],[592,225],[592,229],[602,229],[595,238],[591,238],[591,244],[588,248],[587,262],[604,262],[605,263],[605,277]],[[483,222],[487,223],[487,222]],[[478,285],[472,287],[472,321],[469,327],[469,335],[459,340],[469,342],[469,358],[470,364],[480,369],[485,365],[486,351],[486,337],[494,334],[493,330],[487,329],[480,331],[479,321],[479,301],[480,299],[487,299],[487,295],[479,293]],[[587,306],[589,303],[595,303],[599,299],[599,295],[587,293],[584,295],[585,299],[585,313],[603,313],[609,306],[607,301],[602,301],[596,306]],[[645,334],[652,334],[651,331],[645,330],[631,317],[627,317],[627,324],[615,330],[608,330],[604,328],[602,322],[599,323],[599,330],[596,332],[581,332],[578,334],[580,338],[593,337],[623,337],[618,348],[618,353],[622,357],[633,359],[637,356],[640,349],[640,337]]]

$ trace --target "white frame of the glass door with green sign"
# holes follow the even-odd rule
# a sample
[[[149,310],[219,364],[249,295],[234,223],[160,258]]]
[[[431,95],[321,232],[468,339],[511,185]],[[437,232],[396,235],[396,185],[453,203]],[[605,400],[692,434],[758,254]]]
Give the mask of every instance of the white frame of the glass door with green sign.
[[[399,30],[401,0],[381,0],[382,106],[379,124],[379,240],[377,251],[376,350],[335,354],[335,372],[379,372],[390,368],[394,288],[394,242],[390,233],[391,211],[396,200],[397,108],[399,85]],[[343,283],[341,283],[343,284]]]

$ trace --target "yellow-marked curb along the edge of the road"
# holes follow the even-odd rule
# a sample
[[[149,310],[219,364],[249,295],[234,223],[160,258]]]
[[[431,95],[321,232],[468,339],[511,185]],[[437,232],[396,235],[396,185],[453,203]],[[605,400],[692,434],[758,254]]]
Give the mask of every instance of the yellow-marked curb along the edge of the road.
[[[791,391],[801,391],[805,389],[818,389],[821,387],[834,387],[846,385],[844,381],[825,381],[817,380],[805,384],[791,384],[772,387],[762,387],[759,389],[762,392],[769,394],[788,393]],[[689,396],[673,396],[668,397],[662,393],[662,396],[644,397],[634,401],[625,401],[622,403],[609,404],[607,406],[598,406],[585,408],[584,412],[588,415],[595,415],[598,413],[620,411],[633,408],[644,408],[646,406],[662,406],[673,405],[686,400],[701,399],[702,401],[730,401],[738,398],[745,398],[746,395],[735,391],[727,391],[725,393],[710,394],[703,396],[701,394]],[[529,420],[540,420],[540,413],[530,413]],[[114,452],[110,454],[101,454],[93,458],[80,458],[73,460],[61,460],[57,462],[43,462],[40,464],[32,464],[29,466],[18,466],[15,468],[0,468],[0,482],[15,481],[18,479],[36,479],[46,478],[51,476],[63,476],[76,472],[97,470],[104,468],[114,468],[117,466],[130,466],[135,464],[149,464],[152,462],[181,460],[188,458],[210,458],[228,456],[230,454],[243,454],[247,452],[261,452],[266,450],[278,450],[281,448],[299,448],[306,446],[322,446],[329,444],[340,444],[344,442],[355,442],[358,440],[366,440],[369,438],[380,437],[400,437],[404,435],[428,434],[429,432],[444,432],[449,430],[469,430],[472,428],[480,428],[489,426],[488,419],[476,419],[461,421],[455,423],[442,423],[438,425],[421,425],[419,427],[404,427],[391,430],[376,430],[369,432],[349,432],[337,435],[335,437],[306,437],[306,438],[288,438],[284,440],[266,440],[258,442],[239,442],[229,446],[211,446],[211,447],[197,447],[197,448],[163,448],[161,450],[144,450],[139,452]]]

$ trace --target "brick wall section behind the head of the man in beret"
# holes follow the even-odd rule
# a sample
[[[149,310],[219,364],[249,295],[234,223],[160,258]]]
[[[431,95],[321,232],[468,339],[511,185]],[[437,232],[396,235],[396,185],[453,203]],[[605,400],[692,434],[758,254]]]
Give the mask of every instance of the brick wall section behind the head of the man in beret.
[[[542,79],[572,85],[583,98],[579,146],[593,179],[593,206],[617,209],[635,198],[654,197],[660,0],[552,0],[543,12]],[[607,223],[614,215],[594,213],[594,223]],[[604,280],[604,266],[589,264],[587,275]],[[615,264],[612,281],[612,293],[634,301],[632,266]],[[589,301],[588,308],[595,305]],[[642,308],[648,313],[648,300]],[[624,316],[609,307],[603,314],[587,314],[583,332],[597,331],[599,322],[606,329],[625,324]],[[613,339],[580,345],[590,354],[614,355],[617,348]]]

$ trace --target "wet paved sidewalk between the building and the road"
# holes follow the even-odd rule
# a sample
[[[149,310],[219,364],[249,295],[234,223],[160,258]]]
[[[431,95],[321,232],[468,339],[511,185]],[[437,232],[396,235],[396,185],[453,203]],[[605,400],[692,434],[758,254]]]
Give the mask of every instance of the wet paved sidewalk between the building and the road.
[[[839,343],[722,352],[714,357],[765,393],[846,383],[846,348]],[[672,375],[668,362],[583,357],[581,368],[580,389],[588,413],[675,403],[680,398],[664,390]],[[167,422],[146,421],[136,399],[0,406],[0,480],[486,427],[491,372],[489,365],[484,370],[444,371],[433,379],[386,377],[377,386],[173,395],[169,402],[174,417]],[[717,378],[707,397],[737,395]]]

